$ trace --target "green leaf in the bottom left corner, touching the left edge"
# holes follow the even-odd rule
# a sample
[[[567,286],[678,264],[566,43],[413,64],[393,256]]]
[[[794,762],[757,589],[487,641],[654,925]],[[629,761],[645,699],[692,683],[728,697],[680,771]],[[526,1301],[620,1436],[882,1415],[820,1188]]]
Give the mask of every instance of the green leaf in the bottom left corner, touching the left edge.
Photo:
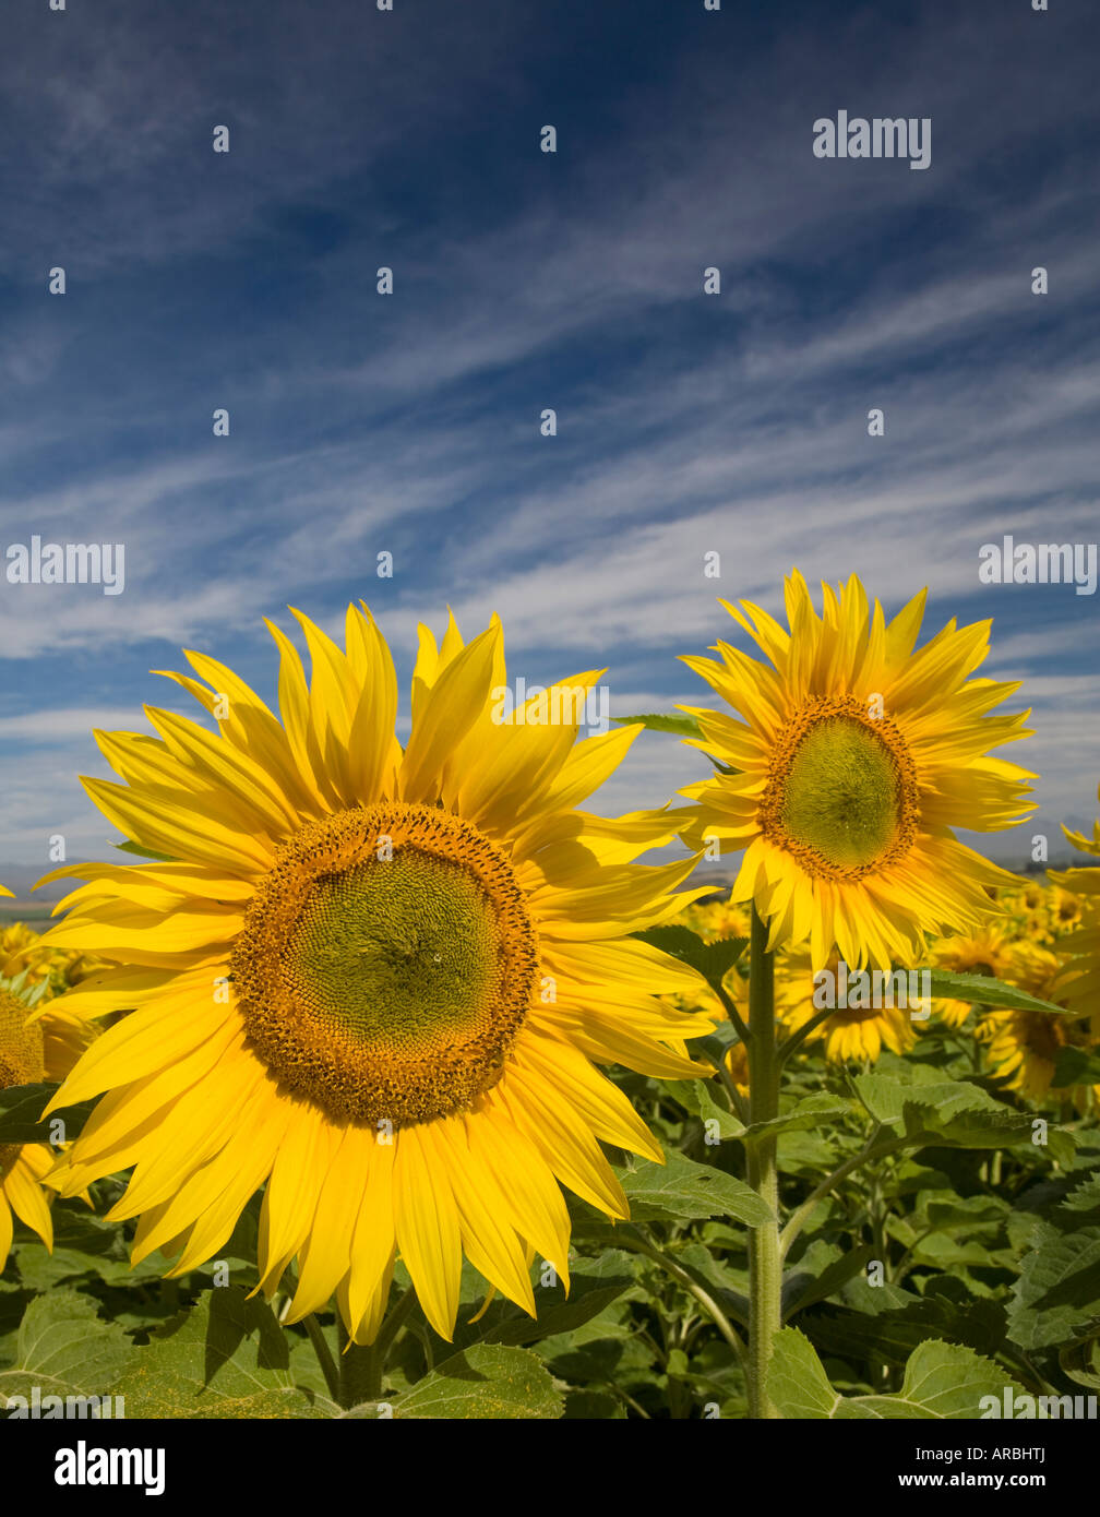
[[[121,1391],[118,1380],[134,1347],[117,1323],[99,1320],[99,1303],[79,1291],[36,1296],[20,1323],[15,1361],[0,1367],[0,1400],[29,1396],[100,1396]]]

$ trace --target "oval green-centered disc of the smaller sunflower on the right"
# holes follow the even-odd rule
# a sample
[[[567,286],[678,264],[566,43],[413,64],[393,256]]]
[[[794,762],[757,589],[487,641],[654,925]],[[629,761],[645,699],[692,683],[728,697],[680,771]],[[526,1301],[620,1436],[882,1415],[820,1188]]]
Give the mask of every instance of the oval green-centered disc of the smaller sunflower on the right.
[[[797,842],[851,868],[891,845],[900,799],[898,766],[886,743],[860,722],[833,718],[798,745],[780,818]]]

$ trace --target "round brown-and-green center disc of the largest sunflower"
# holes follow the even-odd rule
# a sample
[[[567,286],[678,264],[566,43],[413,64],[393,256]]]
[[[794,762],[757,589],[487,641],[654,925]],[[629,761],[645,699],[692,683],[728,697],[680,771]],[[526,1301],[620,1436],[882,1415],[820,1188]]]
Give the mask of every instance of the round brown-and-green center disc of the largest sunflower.
[[[337,1121],[469,1110],[499,1080],[539,983],[505,854],[438,807],[322,818],[279,850],[234,944],[252,1048]]]

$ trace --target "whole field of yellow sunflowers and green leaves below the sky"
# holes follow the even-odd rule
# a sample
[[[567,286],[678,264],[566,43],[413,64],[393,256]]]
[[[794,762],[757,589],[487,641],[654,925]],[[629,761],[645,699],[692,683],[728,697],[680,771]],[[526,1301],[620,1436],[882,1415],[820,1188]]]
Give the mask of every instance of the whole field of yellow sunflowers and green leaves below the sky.
[[[308,675],[272,627],[278,715],[191,652],[208,721],[99,733],[121,859],[0,931],[8,1417],[1095,1397],[1100,869],[957,839],[1026,827],[1027,713],[922,607],[794,573],[684,655],[715,704],[584,739],[452,619],[404,745],[349,607]],[[712,778],[583,809],[646,728]]]

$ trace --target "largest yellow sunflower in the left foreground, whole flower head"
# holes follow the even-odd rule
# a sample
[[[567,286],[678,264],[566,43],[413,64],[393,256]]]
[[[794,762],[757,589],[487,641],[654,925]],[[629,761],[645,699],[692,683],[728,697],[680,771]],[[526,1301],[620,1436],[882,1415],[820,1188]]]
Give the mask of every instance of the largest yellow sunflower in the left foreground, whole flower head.
[[[420,628],[402,751],[366,607],[343,649],[294,614],[313,672],[269,623],[281,721],[188,652],[197,678],[168,678],[217,736],[156,708],[156,737],[97,734],[123,783],[88,793],[153,859],[59,871],[88,883],[49,941],[112,965],[73,1001],[130,1009],[59,1095],[109,1092],[64,1192],[134,1167],[111,1215],[140,1218],[135,1262],[164,1248],[182,1274],[262,1188],[258,1288],[297,1258],[290,1321],[335,1294],[373,1341],[399,1253],[451,1338],[463,1253],[530,1314],[536,1252],[567,1282],[560,1185],[628,1215],[598,1139],[662,1162],[592,1060],[701,1073],[684,1038],[710,1021],[655,1000],[696,977],[630,936],[701,892],[674,894],[693,860],[633,862],[668,813],[577,810],[640,731],[548,719],[598,674],[504,721],[499,620],[469,645],[454,617],[442,646]]]

